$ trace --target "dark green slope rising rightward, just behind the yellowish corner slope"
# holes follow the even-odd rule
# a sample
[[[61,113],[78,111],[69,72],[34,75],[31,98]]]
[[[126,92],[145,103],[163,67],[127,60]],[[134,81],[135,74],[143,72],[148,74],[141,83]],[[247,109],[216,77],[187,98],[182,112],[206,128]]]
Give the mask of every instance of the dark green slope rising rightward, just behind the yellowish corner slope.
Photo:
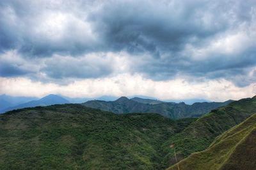
[[[256,98],[246,98],[232,102],[225,107],[213,110],[191,123],[182,132],[173,135],[164,144],[166,156],[163,164],[172,165],[174,152],[170,144],[175,143],[178,159],[182,160],[191,153],[205,150],[215,137],[241,123],[256,111]]]

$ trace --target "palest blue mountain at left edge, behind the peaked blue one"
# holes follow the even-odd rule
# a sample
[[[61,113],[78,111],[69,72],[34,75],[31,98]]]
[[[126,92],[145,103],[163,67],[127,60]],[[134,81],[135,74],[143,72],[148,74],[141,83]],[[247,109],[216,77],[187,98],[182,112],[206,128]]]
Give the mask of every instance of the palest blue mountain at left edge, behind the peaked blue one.
[[[35,97],[12,97],[9,95],[0,95],[0,112],[8,107],[23,104],[36,99],[37,98]]]

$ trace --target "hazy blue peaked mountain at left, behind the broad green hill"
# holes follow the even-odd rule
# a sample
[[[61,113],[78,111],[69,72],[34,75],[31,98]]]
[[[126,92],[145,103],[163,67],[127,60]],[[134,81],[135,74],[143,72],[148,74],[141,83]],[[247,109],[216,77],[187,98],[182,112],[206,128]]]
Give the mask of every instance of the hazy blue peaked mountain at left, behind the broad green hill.
[[[45,106],[45,105],[53,105],[53,104],[69,104],[68,100],[58,95],[47,95],[46,97],[40,98],[39,100],[33,100],[30,102],[26,102],[24,104],[19,104],[13,107],[8,107],[3,109],[2,112],[12,111],[14,109],[22,109],[25,107],[36,107],[36,106]]]

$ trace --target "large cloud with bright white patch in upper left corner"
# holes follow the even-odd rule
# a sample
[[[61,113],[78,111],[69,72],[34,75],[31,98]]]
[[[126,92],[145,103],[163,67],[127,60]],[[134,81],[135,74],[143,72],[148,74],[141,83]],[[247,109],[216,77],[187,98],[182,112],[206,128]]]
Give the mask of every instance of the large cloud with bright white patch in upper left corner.
[[[76,12],[78,5],[68,1],[1,1],[0,49],[17,49],[32,58],[93,50],[97,39],[86,22],[86,13],[79,13],[88,7],[83,5]]]

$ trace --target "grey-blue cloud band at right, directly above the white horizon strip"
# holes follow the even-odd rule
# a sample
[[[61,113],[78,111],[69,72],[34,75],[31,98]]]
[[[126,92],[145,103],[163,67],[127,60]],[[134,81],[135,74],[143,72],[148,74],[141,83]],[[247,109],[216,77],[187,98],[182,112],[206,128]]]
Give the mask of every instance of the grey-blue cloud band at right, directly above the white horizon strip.
[[[247,86],[255,82],[256,77],[247,77],[250,69],[256,65],[256,49],[252,47],[234,56],[215,54],[211,58],[195,61],[182,56],[165,59],[143,59],[140,65],[134,65],[134,70],[145,73],[145,76],[155,80],[165,80],[166,77],[189,76],[207,79],[225,78],[233,81],[237,86]],[[243,81],[237,77],[243,77]],[[255,77],[253,79],[253,77]]]

